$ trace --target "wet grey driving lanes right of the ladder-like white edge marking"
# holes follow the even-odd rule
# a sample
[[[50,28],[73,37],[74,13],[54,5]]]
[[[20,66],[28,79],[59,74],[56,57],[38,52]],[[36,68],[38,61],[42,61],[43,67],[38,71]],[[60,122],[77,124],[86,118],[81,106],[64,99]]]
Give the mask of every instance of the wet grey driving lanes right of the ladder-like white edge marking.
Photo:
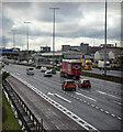
[[[121,130],[121,110],[123,108],[121,84],[81,76],[81,78],[90,79],[90,89],[77,87],[76,91],[63,91],[62,82],[65,78],[60,78],[58,72],[49,78],[44,77],[40,69],[34,70],[34,76],[29,76],[25,66],[8,65],[4,69],[35,87],[93,128],[116,132]],[[30,94],[26,92],[26,95]],[[35,100],[36,103],[38,101]]]

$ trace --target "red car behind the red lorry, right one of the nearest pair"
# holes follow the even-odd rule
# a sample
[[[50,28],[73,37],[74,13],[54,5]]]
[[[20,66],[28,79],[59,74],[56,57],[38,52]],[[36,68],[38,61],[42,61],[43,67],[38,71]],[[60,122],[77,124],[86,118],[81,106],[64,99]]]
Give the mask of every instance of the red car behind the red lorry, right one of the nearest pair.
[[[78,81],[78,88],[91,88],[91,84],[89,79],[80,79]]]

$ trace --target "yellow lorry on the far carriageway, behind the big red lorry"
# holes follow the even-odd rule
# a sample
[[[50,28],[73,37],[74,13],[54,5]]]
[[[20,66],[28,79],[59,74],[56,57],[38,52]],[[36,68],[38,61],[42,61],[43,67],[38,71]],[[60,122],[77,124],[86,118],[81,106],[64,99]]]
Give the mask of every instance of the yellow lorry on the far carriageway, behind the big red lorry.
[[[81,62],[81,67],[87,70],[92,69],[92,61],[91,59],[78,59],[78,62]]]

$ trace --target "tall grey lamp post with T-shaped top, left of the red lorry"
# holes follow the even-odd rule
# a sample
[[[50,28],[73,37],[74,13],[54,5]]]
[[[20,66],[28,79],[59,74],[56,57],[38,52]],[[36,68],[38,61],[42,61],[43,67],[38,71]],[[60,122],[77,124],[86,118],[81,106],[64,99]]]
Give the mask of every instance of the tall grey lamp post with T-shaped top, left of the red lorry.
[[[53,67],[54,67],[54,54],[55,54],[55,11],[59,8],[49,8],[54,11],[54,21],[53,21]]]

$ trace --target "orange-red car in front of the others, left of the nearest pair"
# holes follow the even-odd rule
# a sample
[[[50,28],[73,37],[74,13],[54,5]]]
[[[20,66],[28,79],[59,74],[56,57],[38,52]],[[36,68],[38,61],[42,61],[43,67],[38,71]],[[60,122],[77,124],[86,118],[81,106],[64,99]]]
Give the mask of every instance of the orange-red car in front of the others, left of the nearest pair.
[[[76,91],[76,82],[75,80],[65,80],[63,84],[62,84],[62,89],[63,90],[75,90]]]

